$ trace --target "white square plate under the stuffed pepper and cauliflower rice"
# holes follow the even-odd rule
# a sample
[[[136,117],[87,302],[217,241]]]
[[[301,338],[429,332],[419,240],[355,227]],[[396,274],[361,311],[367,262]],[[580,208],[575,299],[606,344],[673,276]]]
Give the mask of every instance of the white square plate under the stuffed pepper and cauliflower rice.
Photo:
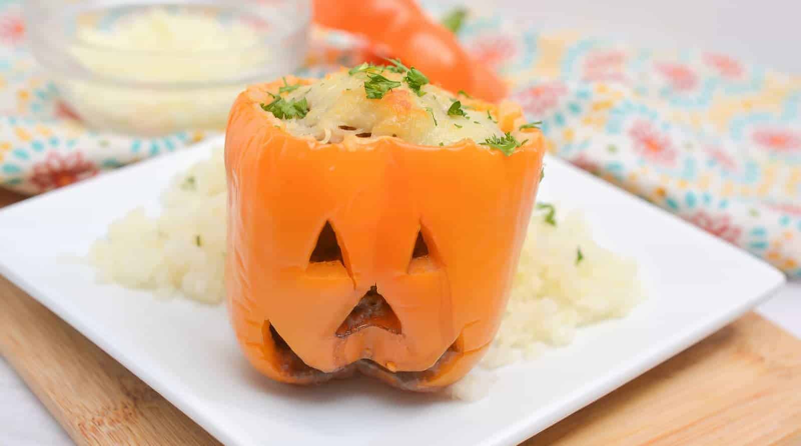
[[[539,198],[585,212],[600,243],[637,259],[649,299],[625,319],[498,372],[485,399],[405,393],[368,379],[300,388],[254,372],[224,306],[95,283],[84,255],[131,208],[158,211],[208,141],[0,211],[0,273],[226,444],[516,444],[701,340],[771,295],[766,263],[549,158]]]

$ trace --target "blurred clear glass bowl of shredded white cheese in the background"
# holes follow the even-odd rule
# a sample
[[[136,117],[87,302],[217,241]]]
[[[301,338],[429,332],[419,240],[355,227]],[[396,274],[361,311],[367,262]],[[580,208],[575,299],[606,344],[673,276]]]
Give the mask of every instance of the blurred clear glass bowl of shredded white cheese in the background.
[[[304,62],[310,0],[26,0],[30,47],[91,127],[222,130],[236,94]]]

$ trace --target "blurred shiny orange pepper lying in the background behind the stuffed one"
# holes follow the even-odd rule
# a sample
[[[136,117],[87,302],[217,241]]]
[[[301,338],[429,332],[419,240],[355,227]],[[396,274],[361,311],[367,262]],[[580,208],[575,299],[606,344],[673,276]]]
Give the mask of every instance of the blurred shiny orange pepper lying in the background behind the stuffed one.
[[[315,22],[363,34],[388,47],[445,90],[465,90],[489,102],[498,102],[507,93],[497,74],[474,63],[453,33],[433,22],[413,0],[314,0],[313,7]]]

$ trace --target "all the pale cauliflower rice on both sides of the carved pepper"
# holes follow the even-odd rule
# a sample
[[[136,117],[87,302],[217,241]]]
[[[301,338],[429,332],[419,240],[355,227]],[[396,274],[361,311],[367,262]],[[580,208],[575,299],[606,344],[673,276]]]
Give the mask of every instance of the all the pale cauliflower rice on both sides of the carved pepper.
[[[162,197],[163,211],[142,208],[112,223],[94,243],[91,263],[103,282],[183,294],[203,303],[223,300],[226,183],[223,150],[176,176]],[[547,205],[545,205],[547,206]],[[482,361],[497,368],[536,356],[543,346],[570,344],[577,327],[626,315],[642,299],[638,267],[592,239],[578,213],[553,223],[535,211],[514,277],[509,305]],[[463,380],[468,387],[470,380]],[[474,391],[454,389],[459,398]]]

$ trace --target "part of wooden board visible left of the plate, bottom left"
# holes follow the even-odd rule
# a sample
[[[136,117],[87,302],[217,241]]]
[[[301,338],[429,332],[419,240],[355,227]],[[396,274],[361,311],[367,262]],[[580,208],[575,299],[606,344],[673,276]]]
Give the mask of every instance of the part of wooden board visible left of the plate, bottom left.
[[[2,276],[0,307],[0,354],[76,444],[218,444]]]

